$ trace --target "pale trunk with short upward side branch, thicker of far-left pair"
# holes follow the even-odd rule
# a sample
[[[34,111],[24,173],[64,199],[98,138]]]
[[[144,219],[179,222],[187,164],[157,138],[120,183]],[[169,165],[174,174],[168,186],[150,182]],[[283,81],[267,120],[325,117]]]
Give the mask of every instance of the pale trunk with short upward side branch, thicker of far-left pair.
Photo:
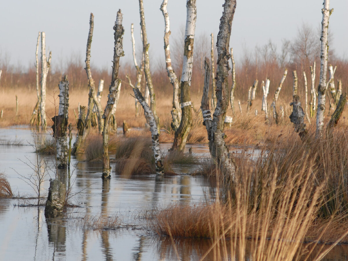
[[[45,32],[41,32],[41,93],[40,93],[40,118],[43,130],[47,128],[46,122],[46,81],[47,74],[51,64],[52,53],[49,52],[48,60],[46,59]]]

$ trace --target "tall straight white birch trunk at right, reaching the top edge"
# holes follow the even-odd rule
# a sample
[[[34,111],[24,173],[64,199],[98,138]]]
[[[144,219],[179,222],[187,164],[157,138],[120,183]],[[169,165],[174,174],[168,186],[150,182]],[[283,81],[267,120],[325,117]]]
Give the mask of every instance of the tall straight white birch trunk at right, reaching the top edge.
[[[327,32],[329,29],[329,16],[333,9],[329,9],[330,0],[324,0],[324,8],[322,9],[322,33],[320,37],[321,52],[320,52],[320,79],[318,86],[318,108],[316,119],[316,137],[320,138],[323,135],[324,128],[324,113],[325,113],[325,94],[326,94],[326,72],[327,72],[327,52],[329,45],[327,43]]]

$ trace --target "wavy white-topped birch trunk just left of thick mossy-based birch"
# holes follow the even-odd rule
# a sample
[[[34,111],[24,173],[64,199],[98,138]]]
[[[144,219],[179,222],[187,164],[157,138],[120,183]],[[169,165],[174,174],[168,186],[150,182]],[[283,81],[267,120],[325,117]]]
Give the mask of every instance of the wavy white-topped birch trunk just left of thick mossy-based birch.
[[[164,17],[164,23],[165,23],[164,53],[166,56],[166,69],[167,69],[169,80],[171,81],[171,84],[173,85],[173,107],[171,111],[171,114],[172,114],[171,126],[173,130],[176,132],[180,126],[180,121],[181,121],[181,108],[179,105],[179,79],[177,79],[174,69],[172,67],[171,51],[169,46],[169,35],[171,34],[171,31],[170,31],[170,24],[169,24],[169,15],[167,12],[167,3],[168,3],[168,0],[163,0],[163,3],[161,5],[161,11],[162,11],[162,14]]]

